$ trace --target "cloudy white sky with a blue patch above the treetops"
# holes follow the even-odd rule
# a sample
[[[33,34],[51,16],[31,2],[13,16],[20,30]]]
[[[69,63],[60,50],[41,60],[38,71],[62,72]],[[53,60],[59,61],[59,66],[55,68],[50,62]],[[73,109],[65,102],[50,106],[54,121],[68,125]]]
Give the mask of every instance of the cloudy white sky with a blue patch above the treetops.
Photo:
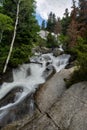
[[[62,18],[65,9],[68,8],[71,11],[71,6],[72,0],[36,0],[36,18],[39,23],[42,19],[47,20],[51,11]]]

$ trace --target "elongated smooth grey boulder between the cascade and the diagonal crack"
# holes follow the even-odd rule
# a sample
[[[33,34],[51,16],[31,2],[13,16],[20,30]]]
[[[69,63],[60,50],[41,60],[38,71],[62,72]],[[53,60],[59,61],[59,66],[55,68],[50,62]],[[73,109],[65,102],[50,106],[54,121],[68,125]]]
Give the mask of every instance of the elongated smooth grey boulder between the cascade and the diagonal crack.
[[[69,78],[74,68],[64,69],[56,73],[50,80],[48,80],[36,93],[36,104],[41,112],[46,112],[64,93],[65,78]]]

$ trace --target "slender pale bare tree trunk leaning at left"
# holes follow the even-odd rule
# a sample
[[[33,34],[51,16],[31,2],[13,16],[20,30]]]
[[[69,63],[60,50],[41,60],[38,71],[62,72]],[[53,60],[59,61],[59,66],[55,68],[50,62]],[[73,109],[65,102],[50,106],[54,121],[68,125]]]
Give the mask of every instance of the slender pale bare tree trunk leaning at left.
[[[12,49],[13,49],[13,45],[14,45],[14,41],[15,41],[15,37],[16,37],[16,33],[17,33],[17,25],[18,25],[18,19],[19,19],[19,7],[20,7],[20,2],[21,0],[18,0],[17,3],[17,14],[16,14],[16,21],[15,21],[15,27],[14,27],[14,33],[13,33],[13,38],[12,38],[12,42],[11,42],[11,46],[10,46],[10,50],[8,53],[8,57],[6,59],[6,63],[4,65],[4,69],[3,69],[3,73],[6,72],[10,57],[11,57],[11,53],[12,53]]]

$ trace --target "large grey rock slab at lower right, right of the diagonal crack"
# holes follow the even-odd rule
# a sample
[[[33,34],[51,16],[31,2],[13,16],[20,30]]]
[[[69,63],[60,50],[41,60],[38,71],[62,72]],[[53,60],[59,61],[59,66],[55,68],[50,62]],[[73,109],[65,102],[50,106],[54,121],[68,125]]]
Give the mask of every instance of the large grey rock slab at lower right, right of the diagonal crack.
[[[87,82],[73,85],[50,110],[60,130],[87,130]]]

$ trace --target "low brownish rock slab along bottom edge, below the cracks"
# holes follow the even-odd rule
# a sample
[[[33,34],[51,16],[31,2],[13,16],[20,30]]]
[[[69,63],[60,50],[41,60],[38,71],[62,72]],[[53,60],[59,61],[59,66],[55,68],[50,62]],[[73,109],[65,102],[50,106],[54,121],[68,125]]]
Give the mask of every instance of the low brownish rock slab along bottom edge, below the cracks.
[[[24,120],[9,124],[2,130],[58,130],[58,127],[47,115],[38,115],[37,118],[26,117]]]

